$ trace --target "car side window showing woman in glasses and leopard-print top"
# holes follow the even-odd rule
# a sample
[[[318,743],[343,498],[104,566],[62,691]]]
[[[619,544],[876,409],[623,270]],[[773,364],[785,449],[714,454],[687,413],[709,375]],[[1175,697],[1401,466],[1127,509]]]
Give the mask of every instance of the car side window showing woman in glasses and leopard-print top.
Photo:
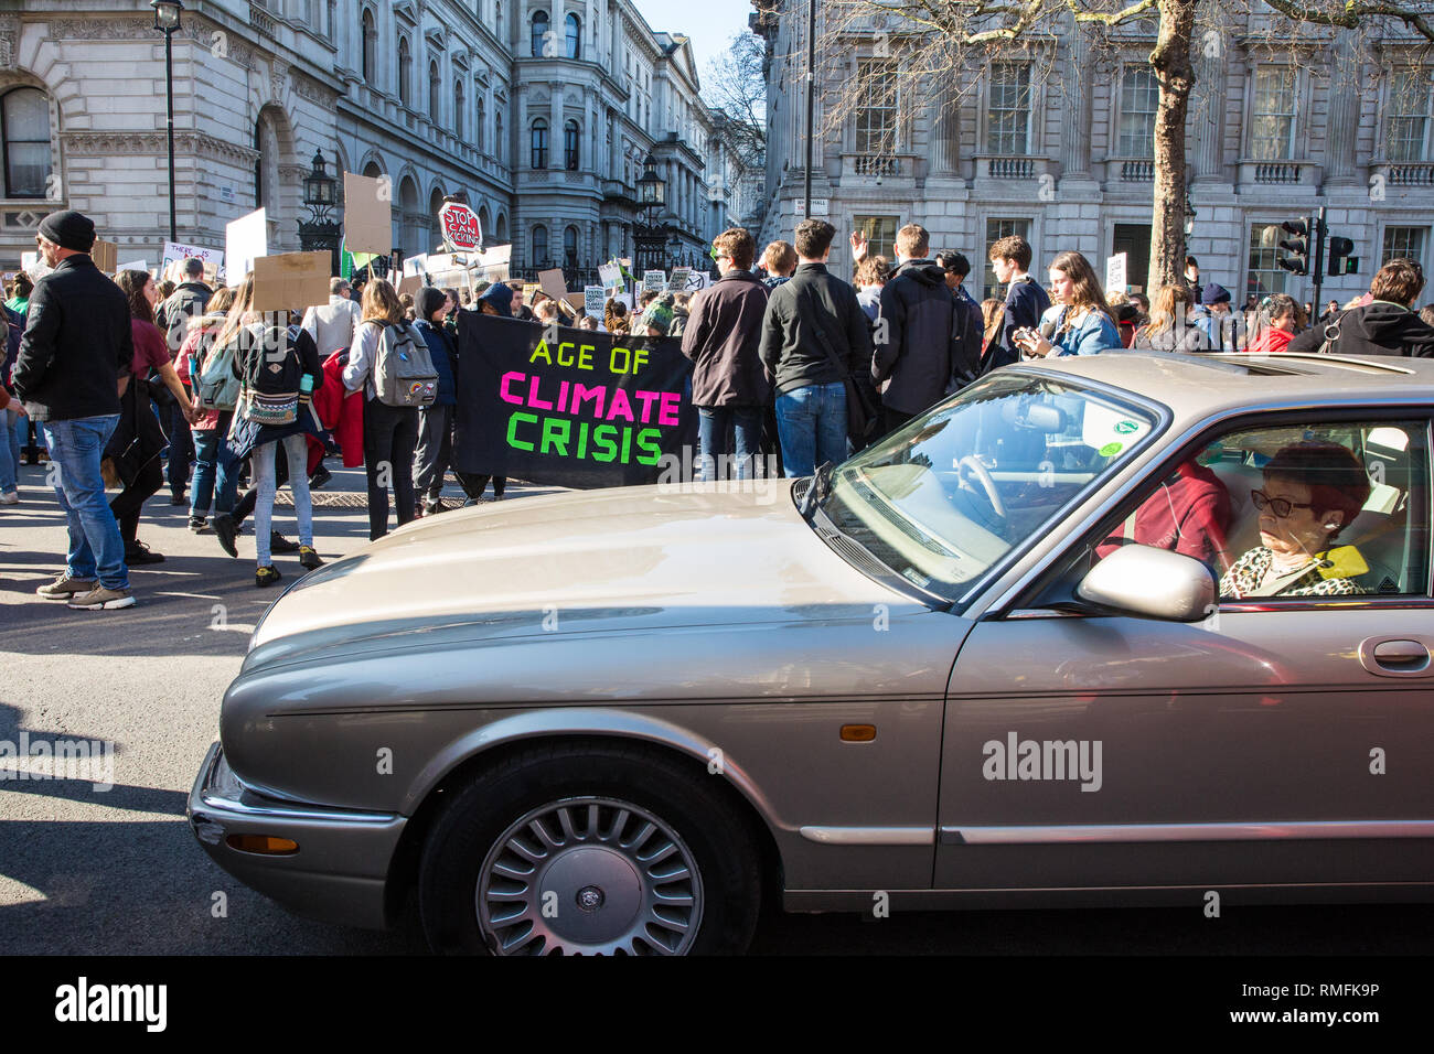
[[[1282,424],[1220,436],[1146,483],[1045,605],[1123,545],[1193,556],[1222,601],[1427,595],[1425,422]]]

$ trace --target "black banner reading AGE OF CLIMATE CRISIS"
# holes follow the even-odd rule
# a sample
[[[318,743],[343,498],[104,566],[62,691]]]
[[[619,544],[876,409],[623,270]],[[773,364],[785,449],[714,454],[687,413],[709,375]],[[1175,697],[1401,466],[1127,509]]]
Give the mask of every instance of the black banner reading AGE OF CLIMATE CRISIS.
[[[675,337],[459,311],[457,346],[456,470],[599,488],[691,463],[693,364]]]

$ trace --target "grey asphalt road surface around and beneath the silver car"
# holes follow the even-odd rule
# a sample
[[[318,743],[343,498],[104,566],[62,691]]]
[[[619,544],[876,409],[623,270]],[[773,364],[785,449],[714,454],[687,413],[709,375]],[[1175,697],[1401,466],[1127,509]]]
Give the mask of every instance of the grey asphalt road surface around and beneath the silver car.
[[[357,492],[361,470],[331,492]],[[34,589],[63,568],[63,518],[44,467],[22,470],[19,506],[0,506],[0,743],[112,741],[113,787],[0,779],[0,952],[6,954],[420,954],[412,909],[374,934],[297,919],[215,868],[184,819],[215,737],[224,688],[277,589],[254,587],[254,549],[231,559],[192,535],[162,490],[141,539],[165,564],[132,572],[135,608],[70,611]],[[456,493],[456,492],[455,492]],[[452,495],[450,495],[452,496]],[[522,500],[511,488],[508,500]],[[277,528],[294,536],[287,508]],[[315,513],[326,558],[367,539],[363,508]],[[297,558],[277,558],[287,576]],[[3,759],[0,759],[3,760]],[[3,776],[3,773],[0,773]],[[222,898],[217,895],[222,893]],[[225,912],[214,905],[224,901]],[[760,954],[1428,954],[1434,908],[1239,908],[902,913],[886,919],[782,915]]]

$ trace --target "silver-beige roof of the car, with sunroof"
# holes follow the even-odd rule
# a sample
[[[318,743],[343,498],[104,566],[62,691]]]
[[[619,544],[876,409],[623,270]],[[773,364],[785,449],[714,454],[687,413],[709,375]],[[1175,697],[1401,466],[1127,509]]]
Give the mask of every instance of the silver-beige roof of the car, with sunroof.
[[[1278,353],[1101,351],[1022,363],[1088,377],[1164,403],[1177,419],[1283,406],[1434,404],[1434,359]],[[1020,369],[1020,367],[1017,367]]]

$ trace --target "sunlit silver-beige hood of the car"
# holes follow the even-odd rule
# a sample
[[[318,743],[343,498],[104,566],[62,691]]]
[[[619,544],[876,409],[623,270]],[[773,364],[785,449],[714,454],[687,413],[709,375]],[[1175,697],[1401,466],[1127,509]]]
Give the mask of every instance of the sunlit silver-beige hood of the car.
[[[852,568],[792,480],[519,498],[410,523],[297,582],[245,668],[376,638],[445,640],[846,618],[919,607]]]

